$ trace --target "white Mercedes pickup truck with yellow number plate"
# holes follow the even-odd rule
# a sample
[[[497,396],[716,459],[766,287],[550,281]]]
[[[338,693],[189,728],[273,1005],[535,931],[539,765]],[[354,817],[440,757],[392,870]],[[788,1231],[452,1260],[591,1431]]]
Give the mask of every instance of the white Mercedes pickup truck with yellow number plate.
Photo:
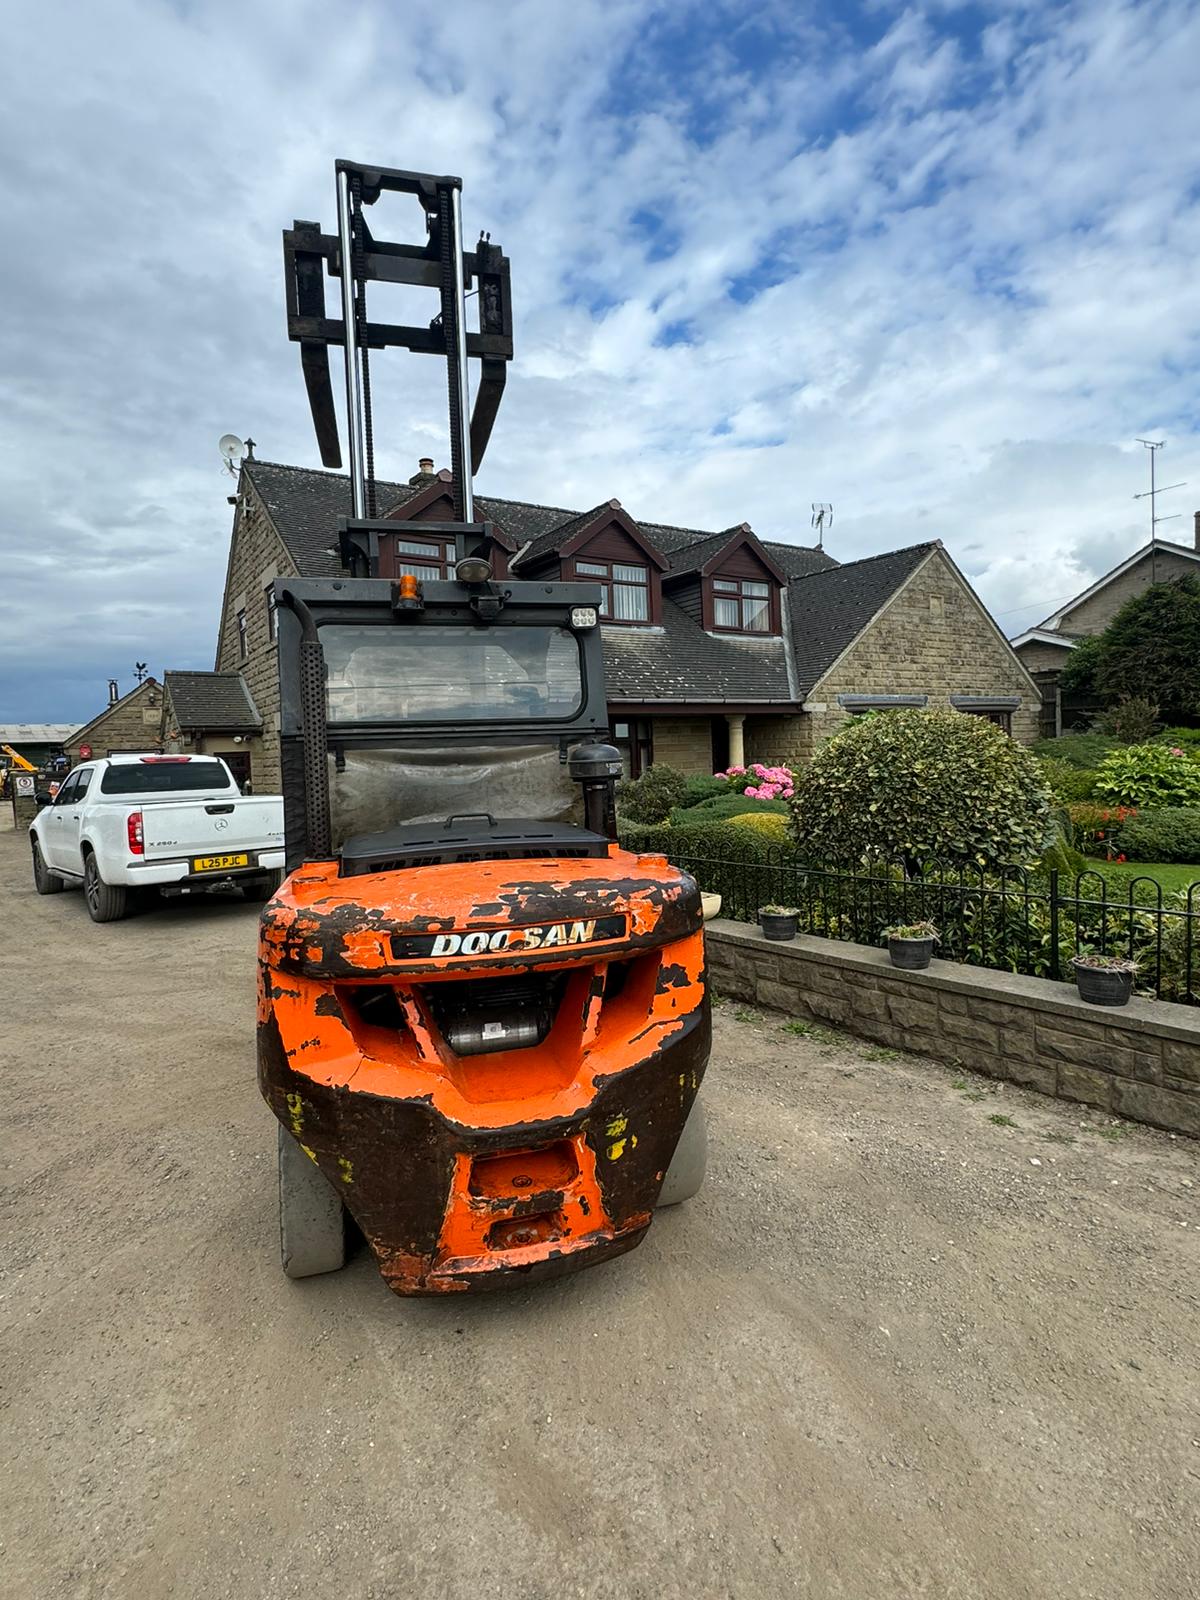
[[[214,755],[110,755],[83,762],[30,824],[34,885],[82,883],[93,922],[117,922],[130,891],[195,894],[238,885],[274,894],[283,869],[283,800],[243,795]]]

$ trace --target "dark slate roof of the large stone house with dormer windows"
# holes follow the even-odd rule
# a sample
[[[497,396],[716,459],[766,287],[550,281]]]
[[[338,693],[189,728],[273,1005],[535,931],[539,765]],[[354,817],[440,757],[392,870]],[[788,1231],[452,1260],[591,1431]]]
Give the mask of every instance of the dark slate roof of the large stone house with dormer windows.
[[[339,574],[336,539],[338,522],[350,509],[347,477],[270,461],[248,461],[242,470],[262,496],[301,576]],[[427,482],[381,482],[378,502],[390,514],[426,486]],[[477,515],[494,522],[518,547],[528,544],[520,552],[518,568],[560,549],[573,533],[611,504],[605,501],[592,510],[578,512],[528,501],[475,498]],[[651,522],[638,522],[637,526],[667,558],[667,578],[698,570],[722,544],[741,533],[741,526],[722,533]],[[936,544],[917,544],[907,550],[838,565],[832,555],[810,546],[779,539],[760,542],[789,579],[784,602],[787,640],[706,634],[698,621],[664,595],[662,627],[605,626],[605,675],[611,699],[685,704],[723,701],[731,706],[798,702],[930,550],[936,549]],[[192,677],[211,678],[221,674]]]

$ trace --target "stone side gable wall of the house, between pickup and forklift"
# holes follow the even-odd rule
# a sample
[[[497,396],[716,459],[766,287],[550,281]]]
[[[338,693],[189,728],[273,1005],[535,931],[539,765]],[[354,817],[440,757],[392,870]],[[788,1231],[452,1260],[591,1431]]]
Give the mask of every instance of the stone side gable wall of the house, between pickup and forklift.
[[[333,534],[331,534],[333,538]],[[275,640],[267,629],[267,586],[275,578],[296,578],[296,563],[262,506],[248,477],[242,478],[234,538],[229,550],[229,574],[221,610],[221,632],[216,646],[216,670],[240,672],[250,698],[262,718],[262,736],[253,738],[250,776],[254,794],[278,794],[282,786],[278,760],[278,666]],[[246,613],[246,656],[240,656],[238,611]],[[211,746],[210,746],[211,747]]]

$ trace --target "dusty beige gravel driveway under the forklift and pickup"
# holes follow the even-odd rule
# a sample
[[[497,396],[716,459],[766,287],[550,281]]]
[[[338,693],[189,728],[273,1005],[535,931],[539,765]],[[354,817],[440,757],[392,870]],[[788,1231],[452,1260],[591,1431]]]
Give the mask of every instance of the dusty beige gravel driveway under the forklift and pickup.
[[[1200,1587],[1195,1144],[723,1005],[634,1254],[290,1283],[256,909],[0,906],[5,1597]]]

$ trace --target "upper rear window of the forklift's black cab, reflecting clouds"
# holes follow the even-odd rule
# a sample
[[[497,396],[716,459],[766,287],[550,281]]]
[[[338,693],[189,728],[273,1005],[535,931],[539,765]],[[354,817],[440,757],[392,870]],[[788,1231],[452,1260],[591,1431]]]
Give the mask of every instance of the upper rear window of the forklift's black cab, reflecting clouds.
[[[554,722],[584,702],[579,642],[565,627],[326,624],[331,723]]]

